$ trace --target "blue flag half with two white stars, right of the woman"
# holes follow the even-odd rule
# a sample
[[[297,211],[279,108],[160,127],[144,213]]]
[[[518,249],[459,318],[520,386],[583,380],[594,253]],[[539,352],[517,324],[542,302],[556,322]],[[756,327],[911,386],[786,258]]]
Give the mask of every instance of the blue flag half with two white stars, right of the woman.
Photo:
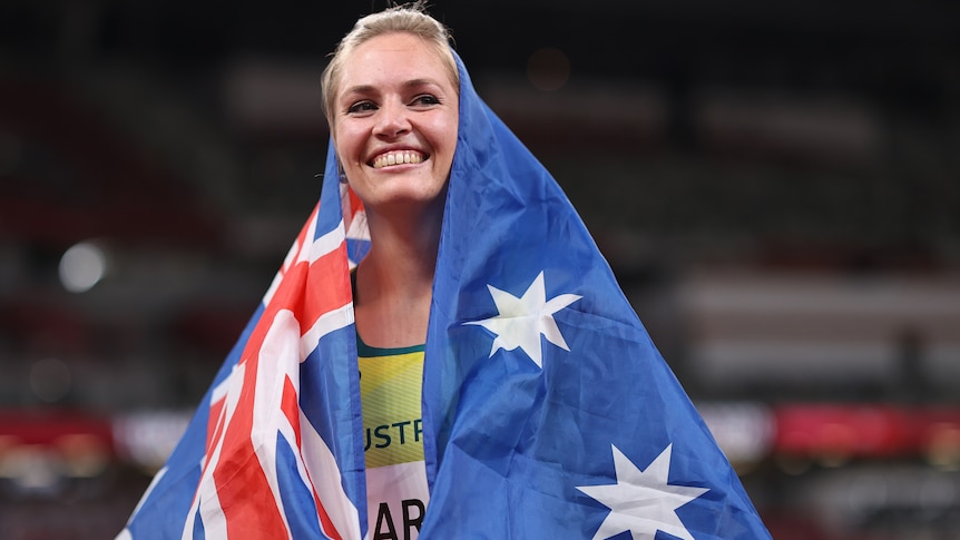
[[[423,537],[768,538],[560,187],[460,77]]]

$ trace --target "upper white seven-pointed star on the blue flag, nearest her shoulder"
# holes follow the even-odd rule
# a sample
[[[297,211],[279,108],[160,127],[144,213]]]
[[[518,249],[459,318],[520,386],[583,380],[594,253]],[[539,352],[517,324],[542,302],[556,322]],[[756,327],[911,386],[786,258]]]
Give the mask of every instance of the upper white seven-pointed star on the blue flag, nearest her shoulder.
[[[523,293],[516,297],[512,294],[487,285],[493,303],[497,304],[499,315],[483,321],[471,321],[464,324],[477,324],[494,333],[493,346],[490,356],[500,348],[512,351],[517,347],[523,350],[527,356],[540,367],[543,367],[542,353],[540,348],[540,334],[560,348],[569,351],[567,342],[554,321],[554,314],[580,300],[576,294],[561,294],[547,301],[547,289],[543,285],[543,273],[533,279],[533,283]]]

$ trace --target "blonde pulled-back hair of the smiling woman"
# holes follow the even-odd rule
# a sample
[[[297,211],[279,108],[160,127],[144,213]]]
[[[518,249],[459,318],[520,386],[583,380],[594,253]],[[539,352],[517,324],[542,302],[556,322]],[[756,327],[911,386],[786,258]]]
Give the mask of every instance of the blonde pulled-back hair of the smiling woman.
[[[331,58],[326,69],[323,70],[321,78],[323,114],[326,116],[327,122],[333,122],[334,100],[339,91],[340,73],[346,57],[366,41],[394,32],[411,33],[433,47],[449,71],[453,88],[459,91],[460,72],[457,69],[457,61],[453,59],[452,38],[447,27],[427,14],[422,1],[394,6],[359,19],[353,26],[353,30],[344,36],[334,49],[333,58]]]

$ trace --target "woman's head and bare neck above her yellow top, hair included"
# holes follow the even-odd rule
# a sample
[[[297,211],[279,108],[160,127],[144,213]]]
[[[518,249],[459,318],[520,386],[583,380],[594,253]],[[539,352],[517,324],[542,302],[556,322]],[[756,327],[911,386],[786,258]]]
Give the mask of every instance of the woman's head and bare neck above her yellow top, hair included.
[[[371,345],[425,340],[458,88],[445,31],[413,10],[361,19],[324,72],[336,157],[364,203],[373,246],[356,271],[355,298],[359,333]]]

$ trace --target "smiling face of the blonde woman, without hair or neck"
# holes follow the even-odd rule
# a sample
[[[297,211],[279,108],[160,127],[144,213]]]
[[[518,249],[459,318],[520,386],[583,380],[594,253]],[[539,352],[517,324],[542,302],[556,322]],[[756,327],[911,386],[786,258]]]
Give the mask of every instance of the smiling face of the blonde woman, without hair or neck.
[[[429,204],[443,192],[459,117],[458,89],[448,73],[439,55],[409,33],[379,36],[346,58],[333,140],[369,210]]]

